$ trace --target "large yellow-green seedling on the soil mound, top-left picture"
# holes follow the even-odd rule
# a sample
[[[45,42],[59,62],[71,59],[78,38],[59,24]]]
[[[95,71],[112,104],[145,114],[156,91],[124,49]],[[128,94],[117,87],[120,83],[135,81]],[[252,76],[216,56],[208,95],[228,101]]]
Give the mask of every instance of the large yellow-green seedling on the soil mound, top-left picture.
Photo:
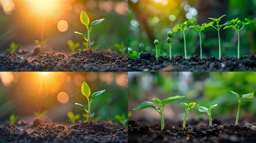
[[[88,48],[89,48],[90,47],[90,33],[91,33],[93,26],[103,22],[103,20],[104,20],[104,18],[95,20],[94,22],[91,23],[91,26],[89,26],[90,19],[89,19],[88,15],[82,10],[82,12],[80,14],[80,21],[86,26],[87,34],[82,34],[79,32],[74,32],[74,33],[81,35],[88,42]]]

